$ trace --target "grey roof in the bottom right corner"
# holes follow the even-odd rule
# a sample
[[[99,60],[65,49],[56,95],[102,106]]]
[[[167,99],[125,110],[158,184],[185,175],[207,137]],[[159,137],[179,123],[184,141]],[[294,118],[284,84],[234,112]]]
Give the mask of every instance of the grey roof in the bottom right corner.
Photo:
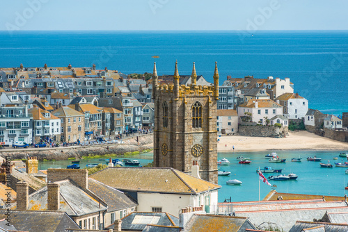
[[[348,224],[331,224],[327,222],[301,222],[297,221],[289,232],[301,232],[303,229],[315,228],[318,226],[324,226],[325,232],[347,232]],[[320,230],[308,230],[310,232],[317,232]]]

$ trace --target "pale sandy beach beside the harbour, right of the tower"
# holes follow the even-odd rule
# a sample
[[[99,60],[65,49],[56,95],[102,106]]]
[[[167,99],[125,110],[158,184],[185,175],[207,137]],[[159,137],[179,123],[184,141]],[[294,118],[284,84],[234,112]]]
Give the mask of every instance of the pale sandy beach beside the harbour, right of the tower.
[[[307,131],[289,132],[286,138],[246,136],[219,137],[218,151],[265,151],[265,150],[338,150],[347,151],[347,142],[338,142]],[[227,146],[226,146],[227,145]]]

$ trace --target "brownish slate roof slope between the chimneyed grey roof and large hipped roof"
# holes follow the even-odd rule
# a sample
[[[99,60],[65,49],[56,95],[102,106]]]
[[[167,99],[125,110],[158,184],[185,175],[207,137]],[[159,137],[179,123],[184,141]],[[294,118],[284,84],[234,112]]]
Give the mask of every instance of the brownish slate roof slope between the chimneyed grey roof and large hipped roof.
[[[95,181],[94,179],[88,179],[88,189],[96,194],[108,205],[108,211],[122,210],[125,208],[132,208],[137,206],[132,199],[129,199],[123,192],[111,188],[104,183]]]

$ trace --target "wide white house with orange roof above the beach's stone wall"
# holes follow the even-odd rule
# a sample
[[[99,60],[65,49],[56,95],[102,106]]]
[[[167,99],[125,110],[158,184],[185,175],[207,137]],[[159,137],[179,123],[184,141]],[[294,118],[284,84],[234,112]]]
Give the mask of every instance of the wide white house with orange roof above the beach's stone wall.
[[[283,115],[283,106],[271,99],[253,99],[238,106],[238,116],[244,117],[246,113],[251,113],[251,122],[266,124],[266,119],[271,119],[276,115]]]

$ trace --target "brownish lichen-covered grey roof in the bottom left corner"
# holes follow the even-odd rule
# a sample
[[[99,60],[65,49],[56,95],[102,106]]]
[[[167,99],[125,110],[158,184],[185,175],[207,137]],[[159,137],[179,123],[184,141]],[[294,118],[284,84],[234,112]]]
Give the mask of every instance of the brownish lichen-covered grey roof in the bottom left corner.
[[[7,210],[0,210],[0,218]],[[58,211],[11,210],[11,222],[17,230],[33,232],[65,232],[65,229],[79,229],[66,214]],[[4,229],[8,226],[5,226]]]

